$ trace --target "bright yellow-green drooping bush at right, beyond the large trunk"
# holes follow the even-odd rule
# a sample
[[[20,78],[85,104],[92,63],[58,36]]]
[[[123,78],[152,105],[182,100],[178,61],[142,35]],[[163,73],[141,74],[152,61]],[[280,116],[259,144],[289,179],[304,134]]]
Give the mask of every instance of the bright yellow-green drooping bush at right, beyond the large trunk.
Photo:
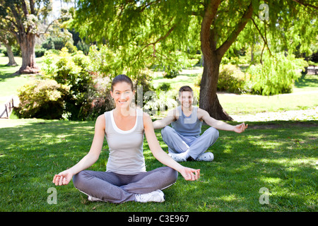
[[[300,78],[299,69],[303,69],[307,62],[295,59],[293,54],[285,57],[284,53],[264,54],[263,64],[252,65],[247,69],[251,75],[250,87],[252,93],[260,95],[276,95],[280,93],[291,93],[293,83]]]

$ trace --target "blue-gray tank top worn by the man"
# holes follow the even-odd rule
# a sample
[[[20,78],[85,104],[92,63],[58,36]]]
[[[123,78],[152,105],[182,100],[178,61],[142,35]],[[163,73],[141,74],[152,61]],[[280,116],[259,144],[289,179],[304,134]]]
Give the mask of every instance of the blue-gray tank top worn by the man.
[[[177,107],[179,119],[172,121],[172,128],[182,136],[199,136],[201,133],[202,121],[198,119],[198,107],[193,107],[192,114],[186,117],[181,106]]]

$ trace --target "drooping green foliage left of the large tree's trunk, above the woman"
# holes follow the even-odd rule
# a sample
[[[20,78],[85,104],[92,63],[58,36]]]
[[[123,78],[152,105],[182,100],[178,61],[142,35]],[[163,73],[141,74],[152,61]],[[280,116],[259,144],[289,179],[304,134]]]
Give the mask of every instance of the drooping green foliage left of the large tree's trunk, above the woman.
[[[84,0],[78,2],[73,26],[82,37],[89,39],[88,42],[107,44],[116,54],[112,66],[119,73],[125,71],[134,78],[136,73],[153,66],[170,67],[166,71],[169,73],[187,67],[187,59],[198,61],[199,39],[194,33],[199,28],[196,17],[185,17],[178,12],[184,9],[190,14],[192,8],[197,7],[192,5],[191,1]],[[192,43],[188,44],[187,40]]]

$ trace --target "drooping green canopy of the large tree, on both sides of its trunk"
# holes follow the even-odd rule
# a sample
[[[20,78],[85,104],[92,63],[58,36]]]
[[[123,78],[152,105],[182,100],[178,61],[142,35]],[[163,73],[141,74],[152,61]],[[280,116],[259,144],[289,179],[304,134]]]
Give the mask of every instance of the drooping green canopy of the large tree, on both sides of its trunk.
[[[117,52],[120,62],[127,68],[125,71],[131,74],[155,66],[165,68],[166,77],[173,78],[182,68],[184,59],[195,59],[199,50],[206,50],[206,55],[214,52],[213,58],[220,58],[220,61],[224,56],[223,64],[248,64],[249,59],[240,57],[249,48],[254,52],[256,45],[257,56],[251,59],[252,63],[261,60],[259,56],[266,47],[272,52],[300,49],[309,53],[308,48],[317,35],[314,14],[317,2],[311,1],[305,6],[298,1],[266,1],[269,18],[261,19],[265,12],[259,6],[263,3],[259,0],[220,1],[219,4],[218,1],[193,0],[81,0],[73,25],[82,37],[89,34],[91,42],[106,43]],[[252,8],[252,12],[248,8]],[[208,32],[202,30],[204,23],[208,24]],[[119,70],[124,71],[123,66]],[[210,78],[205,81],[217,75],[218,72],[209,73]],[[232,82],[230,78],[225,81]],[[228,82],[219,83],[225,86]],[[240,90],[240,85],[235,83],[230,87]],[[208,87],[211,84],[201,85],[201,88]],[[289,88],[287,85],[278,89],[287,91]],[[262,90],[256,92],[263,93]],[[204,98],[208,97],[203,97],[201,102]]]

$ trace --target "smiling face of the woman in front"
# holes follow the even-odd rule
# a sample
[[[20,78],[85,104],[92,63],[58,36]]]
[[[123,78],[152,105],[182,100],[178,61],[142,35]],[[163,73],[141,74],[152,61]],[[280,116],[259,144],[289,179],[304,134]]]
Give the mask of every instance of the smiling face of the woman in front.
[[[128,108],[134,97],[134,91],[131,90],[131,84],[119,82],[114,85],[110,95],[114,98],[116,107]]]

